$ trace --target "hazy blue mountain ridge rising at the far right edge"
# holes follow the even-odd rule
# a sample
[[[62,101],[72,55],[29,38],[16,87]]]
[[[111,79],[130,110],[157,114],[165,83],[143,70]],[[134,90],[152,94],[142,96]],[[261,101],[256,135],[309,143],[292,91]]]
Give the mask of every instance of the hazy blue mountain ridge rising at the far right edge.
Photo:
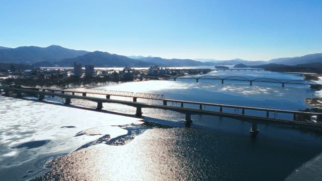
[[[322,62],[322,53],[315,53],[292,58],[276,58],[269,61],[269,63],[278,63],[285,65],[307,64],[314,62]]]

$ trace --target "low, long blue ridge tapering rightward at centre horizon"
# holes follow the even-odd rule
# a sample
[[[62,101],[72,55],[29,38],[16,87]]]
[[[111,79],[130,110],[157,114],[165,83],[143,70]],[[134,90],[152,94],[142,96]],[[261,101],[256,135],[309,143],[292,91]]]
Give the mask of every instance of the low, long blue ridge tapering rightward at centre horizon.
[[[165,59],[160,57],[144,57],[140,58],[143,62],[148,64],[157,64],[160,66],[201,66],[201,65],[214,65],[212,62],[200,62],[191,59]]]

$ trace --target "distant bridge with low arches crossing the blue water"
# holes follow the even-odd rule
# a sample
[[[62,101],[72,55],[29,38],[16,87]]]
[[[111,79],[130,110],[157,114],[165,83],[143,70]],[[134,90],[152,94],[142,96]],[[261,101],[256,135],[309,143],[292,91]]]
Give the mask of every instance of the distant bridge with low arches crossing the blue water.
[[[280,83],[282,87],[285,86],[285,84],[300,84],[300,85],[310,85],[311,88],[322,88],[321,84],[318,84],[316,82],[310,81],[310,80],[278,80],[275,78],[268,78],[268,77],[260,77],[260,78],[254,78],[250,79],[243,76],[227,76],[227,77],[219,77],[214,75],[203,75],[203,76],[193,76],[193,75],[185,75],[185,76],[172,76],[168,74],[159,75],[154,78],[164,78],[169,79],[172,78],[174,81],[177,79],[195,79],[196,82],[199,82],[199,80],[207,79],[207,80],[221,80],[221,83],[224,83],[226,80],[234,80],[234,81],[248,81],[250,82],[250,85],[253,85],[253,82],[268,82],[268,83]]]

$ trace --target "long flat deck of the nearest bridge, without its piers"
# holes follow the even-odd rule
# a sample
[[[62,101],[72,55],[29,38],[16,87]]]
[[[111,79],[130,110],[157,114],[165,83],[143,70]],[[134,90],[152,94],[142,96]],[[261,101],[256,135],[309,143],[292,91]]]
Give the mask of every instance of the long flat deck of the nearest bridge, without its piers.
[[[115,99],[105,99],[105,98],[97,98],[97,97],[89,97],[89,96],[83,96],[83,93],[81,91],[65,91],[65,90],[57,90],[57,89],[43,89],[43,91],[37,91],[37,89],[31,89],[31,88],[13,88],[13,87],[0,87],[1,89],[4,89],[4,91],[12,91],[14,93],[27,93],[27,94],[33,94],[33,95],[51,95],[51,96],[57,96],[65,99],[83,99],[83,100],[89,100],[93,102],[97,102],[98,104],[102,103],[116,103],[116,104],[123,104],[127,106],[132,106],[136,108],[155,108],[155,109],[164,109],[164,110],[171,110],[180,112],[186,115],[194,115],[194,114],[203,114],[203,115],[217,115],[217,116],[227,116],[227,117],[238,117],[238,118],[249,118],[249,119],[258,119],[258,120],[264,120],[264,121],[274,121],[274,122],[280,122],[280,123],[287,123],[287,124],[297,124],[297,125],[308,125],[313,127],[322,127],[321,123],[314,123],[314,122],[307,122],[307,121],[299,121],[296,120],[296,116],[299,115],[306,115],[306,116],[318,116],[322,117],[322,114],[320,113],[307,113],[307,112],[299,112],[299,111],[289,111],[289,110],[279,110],[279,109],[267,109],[267,108],[256,108],[256,107],[246,107],[246,106],[234,106],[234,105],[224,105],[224,104],[214,104],[214,103],[203,103],[203,102],[193,102],[193,101],[183,101],[183,100],[173,100],[173,99],[164,99],[163,104],[157,103],[157,104],[147,104],[147,103],[140,103],[136,102],[136,100],[132,101],[121,101],[121,100],[115,100]],[[71,94],[63,94],[62,91],[71,93]],[[58,93],[57,93],[58,92]],[[75,95],[72,93],[78,93],[82,94],[81,96]],[[91,93],[92,94],[92,93]],[[149,99],[149,98],[142,98],[142,99]],[[153,99],[151,100],[158,100],[159,99]],[[168,103],[180,103],[181,107],[177,106],[170,106]],[[184,105],[199,105],[199,109],[195,108],[188,108],[184,107]],[[202,106],[210,106],[210,107],[219,107],[220,111],[213,111],[213,110],[205,110],[202,109]],[[224,112],[222,108],[233,108],[233,109],[240,109],[242,110],[242,113],[229,113]],[[246,110],[255,110],[255,111],[263,111],[266,112],[266,117],[258,116],[258,115],[248,115],[245,114]],[[269,113],[286,113],[293,115],[293,120],[287,120],[287,119],[280,119],[276,117],[270,117]]]

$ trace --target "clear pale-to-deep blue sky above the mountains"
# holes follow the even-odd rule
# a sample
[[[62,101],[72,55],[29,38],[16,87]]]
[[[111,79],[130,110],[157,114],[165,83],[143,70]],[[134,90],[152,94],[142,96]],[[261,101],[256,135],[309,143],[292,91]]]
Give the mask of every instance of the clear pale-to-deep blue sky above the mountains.
[[[269,60],[322,52],[322,0],[3,1],[0,46]]]

